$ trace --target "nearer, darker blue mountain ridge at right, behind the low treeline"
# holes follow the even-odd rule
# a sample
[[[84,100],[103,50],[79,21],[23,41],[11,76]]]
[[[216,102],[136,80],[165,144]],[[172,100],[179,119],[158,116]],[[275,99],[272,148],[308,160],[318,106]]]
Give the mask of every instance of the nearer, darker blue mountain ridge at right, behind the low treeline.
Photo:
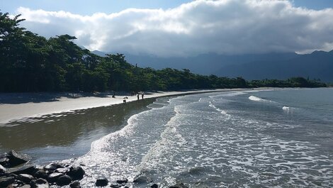
[[[256,60],[239,65],[227,65],[215,71],[218,76],[243,77],[244,79],[287,79],[309,77],[333,82],[333,50],[315,51],[296,55],[285,60]]]

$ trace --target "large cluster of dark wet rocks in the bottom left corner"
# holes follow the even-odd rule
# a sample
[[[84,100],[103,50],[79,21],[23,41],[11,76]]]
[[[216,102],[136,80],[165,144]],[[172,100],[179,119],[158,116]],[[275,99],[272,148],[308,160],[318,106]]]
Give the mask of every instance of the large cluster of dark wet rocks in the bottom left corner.
[[[85,172],[82,167],[69,164],[50,163],[44,167],[27,165],[28,155],[15,151],[0,155],[0,187],[49,188],[51,184],[80,188],[77,179],[82,179]],[[18,165],[21,165],[17,167]],[[5,167],[6,166],[6,167]],[[74,181],[74,182],[73,182]]]

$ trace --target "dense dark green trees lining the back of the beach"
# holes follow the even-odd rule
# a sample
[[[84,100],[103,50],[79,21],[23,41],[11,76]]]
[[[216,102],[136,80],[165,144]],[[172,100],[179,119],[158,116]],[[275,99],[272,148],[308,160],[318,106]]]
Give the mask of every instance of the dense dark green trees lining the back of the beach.
[[[19,15],[0,12],[0,92],[140,91],[235,87],[324,87],[295,77],[247,82],[242,77],[203,76],[189,70],[154,70],[126,62],[122,54],[100,57],[70,35],[46,39],[19,27]]]

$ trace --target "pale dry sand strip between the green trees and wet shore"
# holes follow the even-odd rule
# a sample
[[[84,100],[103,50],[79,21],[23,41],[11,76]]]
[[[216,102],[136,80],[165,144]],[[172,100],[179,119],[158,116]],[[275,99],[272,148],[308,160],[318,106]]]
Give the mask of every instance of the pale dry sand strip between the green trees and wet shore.
[[[184,92],[154,92],[145,93],[144,98],[157,98],[161,96],[174,96],[180,94],[197,94],[203,92],[225,92],[225,91],[237,91],[243,89],[208,89],[208,90],[192,90]],[[43,94],[41,94],[43,95]],[[0,94],[0,124],[10,123],[12,121],[18,121],[21,118],[38,117],[47,114],[57,114],[68,111],[75,111],[80,109],[91,109],[100,106],[111,106],[114,104],[122,104],[126,95],[116,95],[115,98],[109,95],[103,96],[80,96],[77,98],[70,98],[67,96],[58,96],[52,100],[38,100],[28,98],[29,94],[20,95],[16,94]],[[17,99],[15,98],[17,97]],[[25,99],[25,97],[27,99]],[[137,96],[127,96],[127,102],[137,101]],[[43,98],[41,96],[41,98]],[[140,96],[141,100],[141,96]],[[25,102],[20,102],[25,101]]]

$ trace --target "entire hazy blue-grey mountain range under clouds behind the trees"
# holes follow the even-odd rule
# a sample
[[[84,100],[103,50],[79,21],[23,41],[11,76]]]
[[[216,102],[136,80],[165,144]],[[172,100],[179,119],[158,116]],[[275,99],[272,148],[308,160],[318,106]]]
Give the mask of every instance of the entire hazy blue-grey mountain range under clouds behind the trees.
[[[105,52],[94,51],[96,55]],[[198,74],[215,74],[220,77],[243,77],[244,79],[287,79],[310,77],[333,82],[333,50],[315,51],[307,55],[267,53],[256,55],[218,55],[215,53],[194,57],[156,57],[152,55],[125,54],[132,65],[163,69],[188,69]]]

